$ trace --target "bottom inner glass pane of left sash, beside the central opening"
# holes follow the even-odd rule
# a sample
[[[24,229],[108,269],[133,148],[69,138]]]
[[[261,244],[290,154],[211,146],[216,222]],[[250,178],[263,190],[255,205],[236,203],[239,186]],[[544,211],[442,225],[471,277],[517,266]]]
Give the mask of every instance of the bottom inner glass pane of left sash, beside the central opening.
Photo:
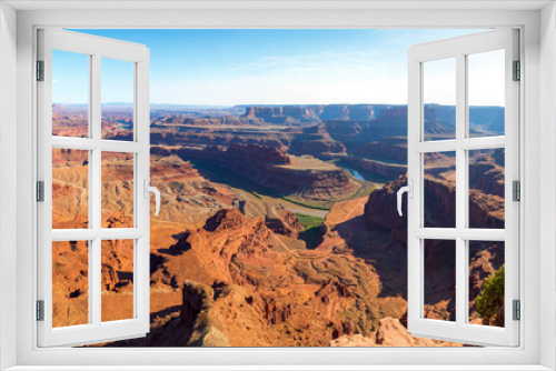
[[[133,318],[133,243],[102,241],[102,322]]]

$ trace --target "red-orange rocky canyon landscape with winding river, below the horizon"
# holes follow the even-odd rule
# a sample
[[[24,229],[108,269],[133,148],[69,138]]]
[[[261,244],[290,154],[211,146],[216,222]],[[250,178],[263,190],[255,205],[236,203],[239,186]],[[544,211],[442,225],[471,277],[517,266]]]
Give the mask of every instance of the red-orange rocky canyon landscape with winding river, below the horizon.
[[[131,118],[115,111],[103,138],[129,139]],[[453,113],[426,110],[431,136],[450,134]],[[499,108],[480,113],[481,132],[500,130]],[[56,134],[87,133],[78,108],[56,114]],[[385,104],[153,107],[151,183],[162,205],[151,218],[151,331],[96,347],[460,347],[407,332],[407,220],[396,210],[406,120],[405,106]],[[451,160],[427,163],[431,225],[455,218]],[[503,150],[469,161],[470,225],[504,228]],[[53,167],[53,228],[87,228],[87,153],[56,150]],[[103,169],[102,225],[129,225],[132,158],[103,158]],[[102,248],[102,320],[129,318],[129,242]],[[425,315],[454,320],[454,249],[426,249]],[[80,241],[53,245],[57,327],[87,322],[87,254]],[[503,263],[503,243],[470,247],[473,323],[483,323],[475,298]]]

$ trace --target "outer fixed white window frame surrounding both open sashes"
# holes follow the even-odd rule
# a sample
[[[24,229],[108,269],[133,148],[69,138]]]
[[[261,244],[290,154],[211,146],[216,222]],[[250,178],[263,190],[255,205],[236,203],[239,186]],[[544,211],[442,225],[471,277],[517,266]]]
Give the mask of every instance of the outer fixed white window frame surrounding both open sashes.
[[[487,2],[487,1],[485,1]],[[76,6],[73,2],[71,6]],[[160,3],[165,3],[161,1]],[[236,9],[230,6],[236,4]],[[259,6],[259,9],[246,10],[241,2],[230,2],[227,9],[205,10],[196,9],[167,9],[158,12],[150,10],[102,10],[107,3],[97,3],[97,10],[73,9],[68,11],[29,10],[20,11],[17,17],[13,9],[2,3],[2,54],[0,62],[6,70],[0,71],[2,82],[8,86],[0,87],[1,98],[16,103],[17,111],[8,107],[0,110],[0,124],[2,137],[0,181],[1,193],[1,362],[2,367],[19,365],[18,370],[37,370],[41,365],[66,365],[67,369],[77,370],[79,364],[99,365],[99,369],[118,369],[117,367],[131,367],[131,369],[168,369],[170,365],[182,365],[180,369],[209,369],[196,365],[214,365],[212,369],[224,370],[227,365],[235,369],[277,369],[270,365],[282,365],[280,369],[359,369],[359,370],[448,370],[474,369],[481,365],[483,370],[546,370],[555,365],[555,289],[554,249],[540,248],[543,241],[554,243],[554,229],[540,234],[540,214],[544,212],[546,220],[543,222],[555,224],[555,195],[548,195],[549,202],[540,203],[539,194],[539,167],[546,170],[544,179],[554,180],[555,161],[553,158],[540,157],[540,144],[546,148],[554,144],[554,137],[540,136],[540,129],[553,133],[556,107],[549,98],[550,86],[554,82],[549,69],[554,69],[556,57],[554,44],[547,42],[554,39],[554,9],[545,10],[507,10],[508,3],[493,2],[492,10],[469,8],[461,6],[450,10],[435,10],[430,2],[411,2],[411,10],[384,10],[398,6],[388,6],[386,1],[377,1],[376,8],[360,9],[364,6],[351,6],[341,2],[317,4],[310,9],[296,9],[296,4],[286,4],[281,9],[271,10],[270,6]],[[17,6],[17,3],[13,3]],[[58,3],[59,6],[60,3]],[[519,2],[522,9],[529,9],[525,1]],[[42,4],[44,6],[44,4]],[[407,3],[406,3],[407,6]],[[31,4],[32,7],[32,4]],[[62,6],[63,7],[63,6]],[[83,6],[86,7],[86,6]],[[156,6],[151,6],[155,7]],[[162,7],[162,6],[160,6]],[[170,6],[173,7],[173,6]],[[190,6],[192,7],[192,6]],[[198,6],[197,6],[198,7]],[[207,6],[208,7],[208,6]],[[299,6],[301,7],[301,6]],[[309,9],[307,9],[307,7]],[[320,7],[320,9],[319,9]],[[390,7],[390,8],[388,8]],[[403,7],[403,6],[401,6]],[[433,7],[433,8],[431,8]],[[443,7],[446,3],[443,2]],[[474,7],[473,4],[470,7]],[[477,6],[477,3],[475,4]],[[552,7],[552,6],[550,6]],[[334,9],[331,9],[334,8]],[[60,9],[60,8],[59,8]],[[17,24],[16,24],[17,20]],[[543,36],[539,24],[543,24]],[[33,201],[36,164],[36,83],[33,78],[33,61],[36,59],[36,29],[38,27],[63,28],[487,28],[487,27],[517,27],[522,34],[520,60],[524,66],[520,84],[520,146],[525,148],[520,158],[523,176],[523,203],[520,218],[522,245],[525,248],[520,259],[524,269],[520,273],[522,298],[522,342],[518,348],[484,348],[484,349],[38,349],[34,299],[36,291],[32,287],[33,272],[36,271],[34,253],[37,237],[33,233],[36,225],[32,220],[36,213]],[[7,29],[9,32],[4,32]],[[17,48],[14,33],[17,32]],[[10,37],[12,39],[10,39]],[[539,47],[543,47],[539,53]],[[17,52],[17,62],[16,62]],[[539,67],[544,66],[543,71]],[[547,81],[540,81],[540,73]],[[16,76],[16,77],[14,77]],[[17,79],[17,80],[16,80]],[[10,97],[17,89],[16,97]],[[547,93],[540,101],[542,88]],[[2,100],[2,104],[6,101]],[[544,122],[540,117],[545,118]],[[17,131],[13,122],[17,119]],[[10,120],[11,129],[6,122]],[[17,161],[6,161],[13,157],[13,146],[3,147],[6,140],[17,143]],[[544,152],[543,152],[544,153]],[[554,153],[554,152],[550,152]],[[19,169],[19,170],[18,170]],[[24,169],[24,170],[23,170]],[[14,184],[13,179],[17,179]],[[17,202],[11,201],[13,194],[6,194],[6,190],[16,191]],[[554,183],[552,184],[554,186]],[[540,184],[548,187],[548,184]],[[553,189],[554,193],[554,189]],[[3,203],[6,201],[6,203]],[[13,209],[7,210],[7,205]],[[12,210],[17,207],[17,220]],[[539,211],[539,208],[543,208]],[[544,218],[545,218],[544,217]],[[7,221],[7,224],[3,222]],[[7,225],[13,227],[6,231]],[[9,243],[17,242],[17,249]],[[9,261],[7,261],[9,260]],[[16,264],[13,263],[16,261]],[[16,282],[13,282],[16,277]],[[539,289],[540,277],[543,287]],[[543,290],[543,297],[540,297]],[[16,321],[13,321],[16,318]],[[539,319],[543,319],[540,322]],[[158,367],[147,367],[157,364]],[[395,367],[396,364],[397,367]],[[28,367],[27,367],[28,365]],[[31,368],[33,365],[34,368]],[[111,365],[111,367],[109,367]],[[135,368],[132,365],[136,365]],[[257,367],[259,365],[259,367]],[[262,365],[262,367],[261,367]],[[267,368],[264,365],[268,365]],[[326,367],[328,365],[328,367]],[[384,368],[381,368],[384,365]],[[465,367],[467,365],[467,368]],[[85,368],[83,368],[85,369]]]

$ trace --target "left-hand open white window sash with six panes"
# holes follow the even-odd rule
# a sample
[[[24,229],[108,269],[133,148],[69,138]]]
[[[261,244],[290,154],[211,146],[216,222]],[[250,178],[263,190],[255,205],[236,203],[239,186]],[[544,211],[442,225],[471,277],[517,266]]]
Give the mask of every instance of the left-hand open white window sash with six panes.
[[[43,181],[43,201],[37,205],[38,300],[43,301],[43,321],[38,321],[39,347],[82,345],[145,337],[150,331],[150,207],[146,187],[150,173],[149,50],[141,44],[67,30],[38,30],[38,59],[43,61],[43,81],[38,93],[38,180]],[[88,138],[52,136],[52,50],[87,56],[89,67]],[[133,73],[133,140],[103,140],[101,129],[102,59],[127,61]],[[52,229],[52,149],[88,152],[88,227]],[[102,167],[105,152],[133,156],[133,227],[101,228]],[[147,197],[146,197],[147,195]],[[133,317],[102,322],[101,243],[133,240]],[[52,242],[88,241],[88,314],[86,324],[52,328]]]

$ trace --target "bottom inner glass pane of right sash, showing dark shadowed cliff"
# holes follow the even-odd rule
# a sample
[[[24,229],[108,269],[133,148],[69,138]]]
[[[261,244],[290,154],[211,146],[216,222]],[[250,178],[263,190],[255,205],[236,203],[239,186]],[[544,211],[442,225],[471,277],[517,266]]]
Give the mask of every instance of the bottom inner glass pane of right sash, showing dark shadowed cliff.
[[[456,241],[425,240],[425,308],[431,320],[456,320]]]

